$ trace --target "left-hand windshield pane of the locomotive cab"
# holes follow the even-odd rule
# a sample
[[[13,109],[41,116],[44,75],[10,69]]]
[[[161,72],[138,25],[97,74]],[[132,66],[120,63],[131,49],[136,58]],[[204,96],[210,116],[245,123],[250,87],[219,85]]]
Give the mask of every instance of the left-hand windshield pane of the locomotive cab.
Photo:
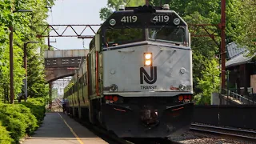
[[[109,28],[105,31],[104,47],[118,46],[131,42],[145,40],[145,30],[142,28]]]

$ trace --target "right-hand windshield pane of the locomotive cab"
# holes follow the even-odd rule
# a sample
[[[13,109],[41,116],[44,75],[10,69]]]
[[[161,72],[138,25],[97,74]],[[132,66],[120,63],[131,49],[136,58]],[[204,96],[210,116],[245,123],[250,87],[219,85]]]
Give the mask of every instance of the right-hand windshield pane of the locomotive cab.
[[[149,40],[187,45],[186,26],[154,26],[149,28]]]

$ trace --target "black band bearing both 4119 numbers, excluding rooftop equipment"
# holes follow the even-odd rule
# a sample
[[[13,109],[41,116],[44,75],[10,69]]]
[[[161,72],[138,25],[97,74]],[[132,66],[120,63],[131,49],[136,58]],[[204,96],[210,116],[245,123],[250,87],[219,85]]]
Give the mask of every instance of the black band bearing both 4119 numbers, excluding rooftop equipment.
[[[106,20],[105,24],[106,26],[174,26],[175,18],[178,18],[178,16],[174,13],[114,13]],[[110,25],[110,23],[114,24]],[[185,23],[180,20],[178,25],[185,26]]]

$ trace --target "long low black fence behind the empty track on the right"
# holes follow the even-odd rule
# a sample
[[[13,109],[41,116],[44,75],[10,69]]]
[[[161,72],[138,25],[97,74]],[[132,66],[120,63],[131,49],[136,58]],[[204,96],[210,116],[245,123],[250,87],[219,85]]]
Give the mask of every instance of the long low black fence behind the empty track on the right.
[[[255,105],[194,106],[193,122],[256,130]]]

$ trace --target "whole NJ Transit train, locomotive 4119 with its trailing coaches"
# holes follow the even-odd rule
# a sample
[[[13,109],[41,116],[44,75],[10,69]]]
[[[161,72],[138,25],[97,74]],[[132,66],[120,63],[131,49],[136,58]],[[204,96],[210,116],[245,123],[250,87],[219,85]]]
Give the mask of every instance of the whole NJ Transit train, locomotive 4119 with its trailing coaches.
[[[120,138],[164,138],[190,126],[192,51],[173,10],[118,10],[99,28],[66,86],[69,113]]]

